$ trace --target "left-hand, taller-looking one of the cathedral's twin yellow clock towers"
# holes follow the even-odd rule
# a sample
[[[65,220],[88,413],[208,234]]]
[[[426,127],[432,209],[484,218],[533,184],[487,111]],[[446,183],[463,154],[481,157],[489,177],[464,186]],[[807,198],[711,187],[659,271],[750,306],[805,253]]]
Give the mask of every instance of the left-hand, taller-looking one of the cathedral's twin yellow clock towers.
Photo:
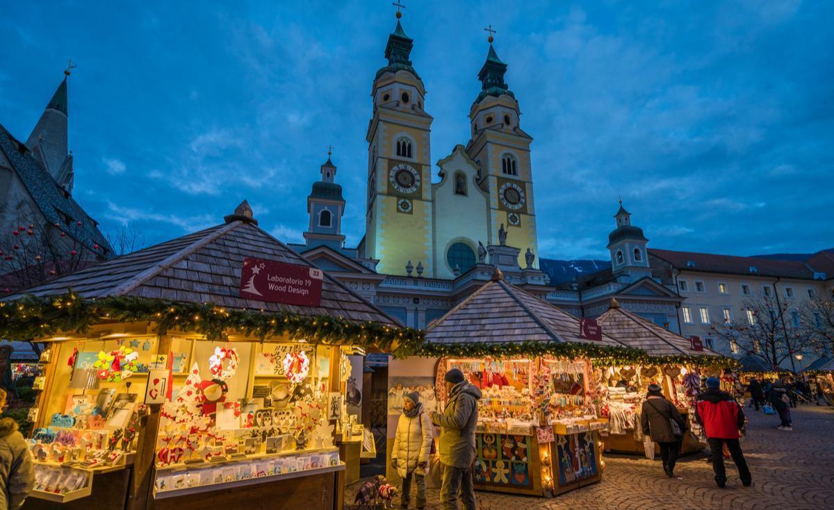
[[[378,259],[376,270],[406,274],[409,261],[432,263],[430,142],[432,117],[425,112],[425,87],[409,60],[414,41],[397,25],[388,37],[388,65],[374,77],[374,114],[368,126],[368,204],[364,257]]]

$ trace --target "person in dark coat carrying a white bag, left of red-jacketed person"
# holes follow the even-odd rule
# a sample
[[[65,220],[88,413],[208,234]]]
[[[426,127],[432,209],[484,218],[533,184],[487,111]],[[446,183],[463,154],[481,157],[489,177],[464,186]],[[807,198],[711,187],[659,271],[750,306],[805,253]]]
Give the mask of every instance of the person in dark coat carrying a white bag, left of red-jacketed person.
[[[672,430],[670,419],[678,424],[681,429],[680,435]],[[669,478],[674,477],[675,463],[678,454],[681,453],[683,433],[686,432],[686,420],[678,412],[675,404],[666,400],[661,387],[656,384],[649,385],[649,393],[646,394],[646,400],[643,402],[641,425],[643,433],[661,445],[663,472]]]

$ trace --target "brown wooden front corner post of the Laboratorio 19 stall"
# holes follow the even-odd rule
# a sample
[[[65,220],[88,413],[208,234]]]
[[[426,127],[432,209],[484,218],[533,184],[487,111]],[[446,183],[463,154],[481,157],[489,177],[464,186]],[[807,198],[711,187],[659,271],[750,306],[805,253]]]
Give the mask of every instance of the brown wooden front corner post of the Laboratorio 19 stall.
[[[159,335],[157,354],[171,351],[171,336]],[[173,384],[173,381],[170,382]],[[127,510],[145,510],[153,500],[153,459],[156,457],[157,433],[159,430],[159,413],[162,404],[148,404],[148,414],[140,419],[137,431],[136,455],[133,457],[133,481],[128,491]]]

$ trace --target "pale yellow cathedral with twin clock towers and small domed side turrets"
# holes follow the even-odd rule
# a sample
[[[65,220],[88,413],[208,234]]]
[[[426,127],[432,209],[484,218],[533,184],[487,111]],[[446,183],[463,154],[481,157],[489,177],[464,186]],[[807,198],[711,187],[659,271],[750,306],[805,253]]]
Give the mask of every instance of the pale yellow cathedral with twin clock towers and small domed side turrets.
[[[652,277],[648,240],[621,204],[608,243],[610,270],[559,285],[540,270],[533,138],[520,126],[520,104],[505,79],[508,66],[491,35],[488,42],[480,87],[473,87],[470,138],[433,160],[426,85],[410,59],[414,40],[398,13],[384,48],[386,63],[371,86],[364,238],[355,248],[344,246],[345,202],[328,158],[307,200],[305,243],[290,247],[414,328],[440,318],[497,267],[510,283],[577,316],[599,315],[616,297],[625,308],[678,331],[681,297]],[[440,180],[432,183],[435,172]]]

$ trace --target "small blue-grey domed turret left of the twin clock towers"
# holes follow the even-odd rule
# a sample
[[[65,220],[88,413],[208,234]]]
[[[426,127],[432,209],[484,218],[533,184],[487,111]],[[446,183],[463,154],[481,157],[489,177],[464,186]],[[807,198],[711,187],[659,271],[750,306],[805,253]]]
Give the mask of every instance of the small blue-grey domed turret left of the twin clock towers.
[[[313,190],[307,196],[309,227],[304,233],[308,248],[328,246],[334,250],[344,248],[342,215],[344,198],[342,187],[336,184],[336,165],[327,153],[327,161],[320,168],[321,180],[313,183]]]

